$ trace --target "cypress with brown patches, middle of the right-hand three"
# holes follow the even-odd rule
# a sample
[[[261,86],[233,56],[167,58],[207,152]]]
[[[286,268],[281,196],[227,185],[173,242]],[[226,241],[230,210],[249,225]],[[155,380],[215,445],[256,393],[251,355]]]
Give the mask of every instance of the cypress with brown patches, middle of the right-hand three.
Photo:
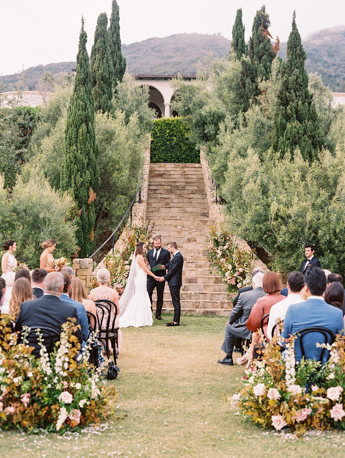
[[[276,53],[271,45],[268,27],[271,25],[265,5],[257,11],[252,26],[252,36],[249,38],[248,57],[241,60],[240,84],[243,89],[243,111],[247,111],[250,100],[260,94],[257,80],[268,79],[272,61]]]

